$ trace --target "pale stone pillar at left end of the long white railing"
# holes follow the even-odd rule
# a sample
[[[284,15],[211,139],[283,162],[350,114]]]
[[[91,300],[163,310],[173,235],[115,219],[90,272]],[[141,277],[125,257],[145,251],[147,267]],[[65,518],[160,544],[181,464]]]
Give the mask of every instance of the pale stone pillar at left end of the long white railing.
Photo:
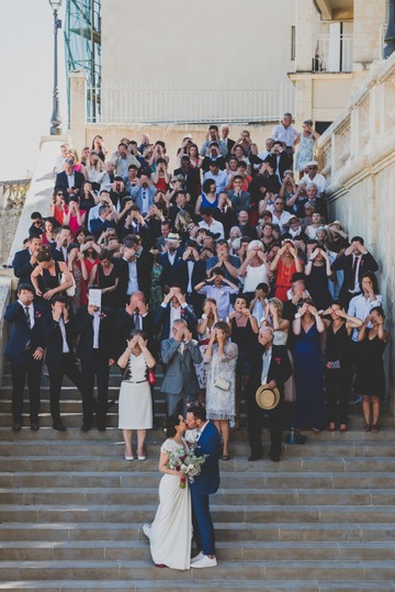
[[[70,136],[79,152],[87,143],[87,72],[75,70],[70,77]]]

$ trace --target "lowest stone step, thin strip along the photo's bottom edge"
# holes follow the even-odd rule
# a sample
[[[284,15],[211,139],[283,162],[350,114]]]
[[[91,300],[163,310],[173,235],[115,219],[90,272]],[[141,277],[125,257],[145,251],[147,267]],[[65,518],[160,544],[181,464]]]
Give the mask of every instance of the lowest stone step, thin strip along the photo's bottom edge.
[[[154,592],[156,590],[192,590],[195,592],[216,592],[217,590],[229,591],[229,583],[221,581],[192,581],[188,580],[188,585],[183,581],[134,581],[134,580],[84,580],[72,581],[63,580],[55,581],[18,581],[18,582],[0,582],[0,590],[12,590],[13,592],[23,592],[24,590],[45,590],[46,592],[75,592],[83,590],[83,592],[98,592],[99,590],[147,590]],[[249,592],[363,592],[369,590],[372,592],[393,592],[395,582],[374,580],[233,580],[233,590],[248,590]]]

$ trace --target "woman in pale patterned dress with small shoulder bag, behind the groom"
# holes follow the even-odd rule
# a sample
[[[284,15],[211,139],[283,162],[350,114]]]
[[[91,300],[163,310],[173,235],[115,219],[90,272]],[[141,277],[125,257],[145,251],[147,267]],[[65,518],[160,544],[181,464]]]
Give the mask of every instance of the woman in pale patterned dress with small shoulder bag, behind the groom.
[[[236,417],[236,362],[238,347],[229,343],[230,327],[215,323],[204,361],[207,364],[206,411],[223,438],[223,460],[229,460],[229,421]],[[216,344],[214,344],[216,339]]]

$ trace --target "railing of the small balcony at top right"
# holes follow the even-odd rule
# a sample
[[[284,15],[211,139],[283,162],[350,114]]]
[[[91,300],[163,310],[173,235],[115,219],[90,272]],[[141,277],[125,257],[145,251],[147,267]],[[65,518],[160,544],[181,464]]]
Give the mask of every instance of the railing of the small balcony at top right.
[[[313,71],[352,71],[352,35],[318,35],[315,38],[313,52]]]

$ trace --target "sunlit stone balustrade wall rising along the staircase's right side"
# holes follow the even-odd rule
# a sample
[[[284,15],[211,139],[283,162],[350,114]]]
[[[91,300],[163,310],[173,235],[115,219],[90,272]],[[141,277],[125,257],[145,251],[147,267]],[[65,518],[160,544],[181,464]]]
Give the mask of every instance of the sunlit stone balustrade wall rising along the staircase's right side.
[[[380,292],[391,331],[386,353],[387,393],[395,405],[395,54],[376,62],[349,107],[318,141],[328,178],[331,220],[364,237],[379,263]]]

